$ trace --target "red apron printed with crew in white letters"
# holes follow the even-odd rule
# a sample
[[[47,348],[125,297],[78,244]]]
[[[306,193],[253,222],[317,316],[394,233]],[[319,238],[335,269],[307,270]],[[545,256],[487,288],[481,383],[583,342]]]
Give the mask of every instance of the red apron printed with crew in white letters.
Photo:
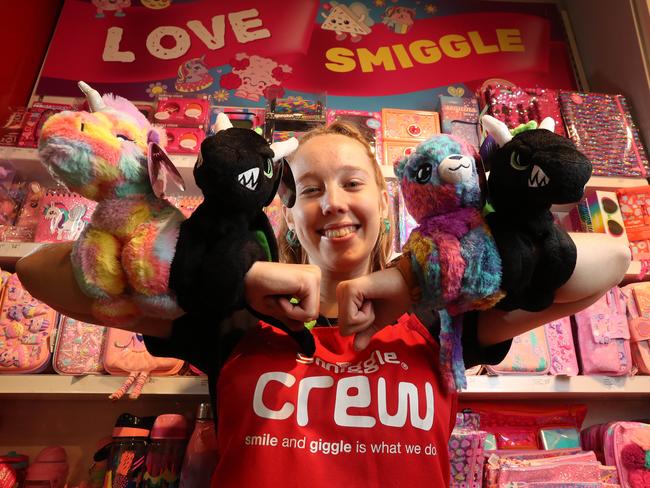
[[[212,486],[449,486],[457,396],[426,328],[404,315],[361,352],[337,327],[313,332],[314,358],[266,324],[240,341],[217,385]]]

